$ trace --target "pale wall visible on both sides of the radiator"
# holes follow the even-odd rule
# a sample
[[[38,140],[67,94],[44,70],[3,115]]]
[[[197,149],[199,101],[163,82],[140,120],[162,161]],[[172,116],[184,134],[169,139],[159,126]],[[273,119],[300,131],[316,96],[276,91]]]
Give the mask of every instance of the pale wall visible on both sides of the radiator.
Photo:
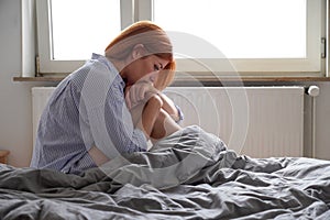
[[[19,167],[29,166],[32,153],[31,87],[45,86],[44,82],[13,81],[21,73],[21,53],[20,0],[0,0],[0,148],[10,150],[9,164]],[[330,160],[330,82],[317,85],[321,90],[317,99],[316,155]],[[306,112],[307,118],[308,114]],[[307,123],[307,148],[309,136]]]

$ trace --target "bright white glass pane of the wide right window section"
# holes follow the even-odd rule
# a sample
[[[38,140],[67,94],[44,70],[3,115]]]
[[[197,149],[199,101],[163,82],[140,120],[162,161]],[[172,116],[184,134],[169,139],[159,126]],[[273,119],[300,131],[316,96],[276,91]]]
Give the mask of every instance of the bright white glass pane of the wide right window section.
[[[154,0],[153,20],[228,58],[305,58],[306,0]],[[191,45],[194,46],[194,45]]]

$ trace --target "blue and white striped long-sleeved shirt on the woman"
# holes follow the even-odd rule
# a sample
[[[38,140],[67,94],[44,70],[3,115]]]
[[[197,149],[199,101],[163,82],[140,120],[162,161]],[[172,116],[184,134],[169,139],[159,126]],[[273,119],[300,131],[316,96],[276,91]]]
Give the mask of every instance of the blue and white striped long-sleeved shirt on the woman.
[[[97,54],[61,81],[41,116],[31,167],[80,173],[96,166],[88,153],[92,146],[109,158],[146,151],[124,86],[112,63]]]

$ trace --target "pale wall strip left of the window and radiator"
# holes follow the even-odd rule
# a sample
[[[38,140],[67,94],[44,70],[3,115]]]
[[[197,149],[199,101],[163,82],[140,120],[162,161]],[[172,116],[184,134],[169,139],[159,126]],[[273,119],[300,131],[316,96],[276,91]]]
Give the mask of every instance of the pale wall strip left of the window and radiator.
[[[32,151],[31,87],[15,82],[21,73],[21,0],[0,0],[0,148],[9,163],[28,166]]]

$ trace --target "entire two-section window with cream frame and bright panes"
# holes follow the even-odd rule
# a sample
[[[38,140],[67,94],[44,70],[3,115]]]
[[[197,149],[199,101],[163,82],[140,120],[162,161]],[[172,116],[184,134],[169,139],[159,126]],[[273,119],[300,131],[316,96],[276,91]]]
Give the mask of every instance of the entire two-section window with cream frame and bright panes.
[[[41,73],[73,72],[138,20],[168,31],[180,72],[324,75],[326,0],[37,0]]]

